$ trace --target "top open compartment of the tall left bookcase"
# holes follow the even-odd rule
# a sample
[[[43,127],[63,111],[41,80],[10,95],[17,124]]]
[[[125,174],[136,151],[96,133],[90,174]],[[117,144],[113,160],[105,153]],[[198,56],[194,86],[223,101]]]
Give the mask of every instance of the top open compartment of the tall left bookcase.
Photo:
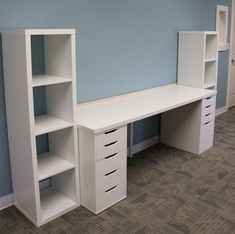
[[[71,79],[71,48],[71,35],[68,34],[31,35],[32,75],[47,74]]]

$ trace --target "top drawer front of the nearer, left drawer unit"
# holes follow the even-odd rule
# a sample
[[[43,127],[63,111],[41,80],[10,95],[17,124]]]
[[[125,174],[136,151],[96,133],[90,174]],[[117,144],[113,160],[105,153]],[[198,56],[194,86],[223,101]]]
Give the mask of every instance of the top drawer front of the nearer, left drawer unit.
[[[104,133],[96,135],[96,147],[102,149],[105,145],[109,145],[115,141],[122,141],[127,136],[127,126],[112,129]]]

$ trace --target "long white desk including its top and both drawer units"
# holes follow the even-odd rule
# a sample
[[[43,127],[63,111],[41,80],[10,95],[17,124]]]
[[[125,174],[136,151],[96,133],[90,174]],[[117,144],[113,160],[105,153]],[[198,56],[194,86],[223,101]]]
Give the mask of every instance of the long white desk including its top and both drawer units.
[[[127,124],[162,113],[161,142],[213,145],[216,91],[176,84],[78,106],[81,205],[95,214],[126,197]]]

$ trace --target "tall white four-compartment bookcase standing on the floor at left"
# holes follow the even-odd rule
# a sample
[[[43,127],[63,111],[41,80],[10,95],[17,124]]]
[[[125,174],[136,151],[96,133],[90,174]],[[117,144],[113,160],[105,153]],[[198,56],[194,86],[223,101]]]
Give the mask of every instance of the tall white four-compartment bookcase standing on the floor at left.
[[[44,72],[33,75],[36,36],[43,38]],[[41,226],[80,204],[75,30],[9,30],[2,39],[14,204]],[[45,90],[46,113],[41,115],[34,100],[39,87]],[[47,143],[43,153],[41,136]]]

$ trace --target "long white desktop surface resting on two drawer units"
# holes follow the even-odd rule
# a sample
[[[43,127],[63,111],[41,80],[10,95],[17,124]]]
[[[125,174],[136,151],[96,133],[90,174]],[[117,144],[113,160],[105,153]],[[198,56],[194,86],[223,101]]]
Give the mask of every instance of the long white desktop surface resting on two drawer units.
[[[76,121],[79,128],[93,134],[216,95],[216,91],[177,84],[124,95],[107,101],[78,105]]]

